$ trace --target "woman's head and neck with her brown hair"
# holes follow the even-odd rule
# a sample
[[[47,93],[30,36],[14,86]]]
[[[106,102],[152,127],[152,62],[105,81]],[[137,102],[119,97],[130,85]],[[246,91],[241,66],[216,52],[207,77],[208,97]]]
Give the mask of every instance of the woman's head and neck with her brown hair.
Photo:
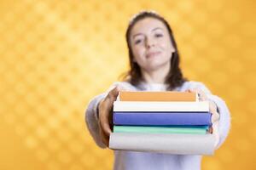
[[[137,14],[127,28],[126,42],[131,66],[126,78],[131,84],[136,86],[147,78],[147,82],[165,83],[172,90],[186,81],[179,68],[179,54],[172,29],[159,14]],[[150,77],[154,77],[154,81]]]

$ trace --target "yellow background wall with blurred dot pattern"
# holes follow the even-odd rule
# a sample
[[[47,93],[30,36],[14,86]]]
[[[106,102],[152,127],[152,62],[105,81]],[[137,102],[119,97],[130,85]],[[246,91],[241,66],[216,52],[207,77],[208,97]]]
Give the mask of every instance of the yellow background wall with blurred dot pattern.
[[[1,0],[1,170],[111,169],[84,110],[127,70],[128,20],[148,8],[171,24],[185,77],[230,108],[230,135],[202,169],[256,167],[255,1]]]

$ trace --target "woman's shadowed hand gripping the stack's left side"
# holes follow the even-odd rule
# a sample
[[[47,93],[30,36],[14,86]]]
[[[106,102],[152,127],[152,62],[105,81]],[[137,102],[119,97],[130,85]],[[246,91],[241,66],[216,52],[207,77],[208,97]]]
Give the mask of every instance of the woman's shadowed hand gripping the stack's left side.
[[[100,127],[100,136],[102,138],[103,144],[108,146],[109,136],[111,131],[111,124],[113,122],[113,102],[117,99],[119,95],[119,88],[113,88],[107,95],[105,99],[102,99],[98,105],[99,111],[99,127]]]

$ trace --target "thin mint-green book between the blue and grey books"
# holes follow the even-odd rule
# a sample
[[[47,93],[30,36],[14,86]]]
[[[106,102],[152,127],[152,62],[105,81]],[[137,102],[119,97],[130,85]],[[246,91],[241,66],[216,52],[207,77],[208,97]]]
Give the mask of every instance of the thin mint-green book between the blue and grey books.
[[[190,133],[206,134],[207,127],[113,126],[113,133]]]

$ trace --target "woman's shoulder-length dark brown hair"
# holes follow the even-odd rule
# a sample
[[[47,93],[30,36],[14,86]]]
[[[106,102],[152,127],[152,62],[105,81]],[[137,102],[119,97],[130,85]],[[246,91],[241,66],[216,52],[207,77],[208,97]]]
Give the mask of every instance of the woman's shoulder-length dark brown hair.
[[[166,26],[166,28],[169,32],[172,46],[175,48],[175,52],[172,53],[172,58],[171,58],[171,69],[170,69],[168,75],[166,76],[166,84],[168,85],[168,89],[172,90],[173,88],[181,86],[183,84],[183,82],[187,81],[187,79],[183,77],[183,73],[182,73],[181,69],[179,68],[179,54],[178,54],[178,50],[177,50],[177,44],[176,44],[175,39],[172,34],[171,27],[169,26],[169,24],[163,17],[161,17],[159,14],[156,14],[152,11],[143,11],[143,12],[136,14],[131,19],[129,26],[126,30],[125,37],[126,37],[127,46],[129,49],[129,59],[130,59],[130,67],[131,68],[130,68],[130,71],[128,71],[125,74],[125,81],[131,82],[132,85],[136,86],[139,84],[139,82],[141,82],[143,80],[140,66],[137,64],[137,62],[134,62],[134,56],[133,56],[132,50],[131,50],[130,34],[131,34],[132,27],[137,23],[137,21],[143,20],[148,17],[160,20],[164,23],[164,25]]]

